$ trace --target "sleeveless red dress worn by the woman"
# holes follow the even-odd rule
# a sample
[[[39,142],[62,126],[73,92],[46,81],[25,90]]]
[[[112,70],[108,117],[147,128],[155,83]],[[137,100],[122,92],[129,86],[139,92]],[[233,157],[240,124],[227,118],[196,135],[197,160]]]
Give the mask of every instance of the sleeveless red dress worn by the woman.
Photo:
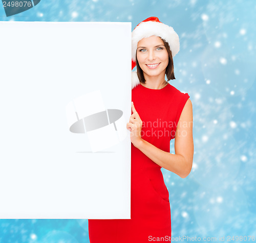
[[[133,88],[132,101],[143,123],[141,137],[170,152],[170,139],[175,138],[180,114],[188,98],[187,93],[170,84],[162,89],[150,89],[140,84]],[[88,220],[90,243],[157,241],[153,237],[164,237],[164,242],[170,242],[169,193],[161,167],[133,144],[131,156],[131,220]]]

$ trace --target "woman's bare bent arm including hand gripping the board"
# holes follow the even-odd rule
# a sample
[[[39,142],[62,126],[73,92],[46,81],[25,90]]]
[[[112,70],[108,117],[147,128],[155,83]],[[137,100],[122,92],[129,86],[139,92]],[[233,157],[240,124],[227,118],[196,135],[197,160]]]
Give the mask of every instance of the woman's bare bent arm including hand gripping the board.
[[[159,166],[174,172],[181,178],[187,177],[191,171],[194,156],[193,109],[190,99],[187,100],[177,125],[175,154],[162,151],[141,138],[139,133],[142,122],[134,105],[132,109],[134,113],[130,123],[127,123],[127,129],[131,131],[131,141],[134,146]]]

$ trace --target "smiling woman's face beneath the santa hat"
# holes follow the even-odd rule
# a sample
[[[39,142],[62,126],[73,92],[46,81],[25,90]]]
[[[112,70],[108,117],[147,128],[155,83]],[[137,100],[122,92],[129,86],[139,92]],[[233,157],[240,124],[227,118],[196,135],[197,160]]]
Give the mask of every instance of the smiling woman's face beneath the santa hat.
[[[160,37],[153,35],[141,39],[137,45],[137,60],[145,79],[147,76],[165,77],[169,56]]]

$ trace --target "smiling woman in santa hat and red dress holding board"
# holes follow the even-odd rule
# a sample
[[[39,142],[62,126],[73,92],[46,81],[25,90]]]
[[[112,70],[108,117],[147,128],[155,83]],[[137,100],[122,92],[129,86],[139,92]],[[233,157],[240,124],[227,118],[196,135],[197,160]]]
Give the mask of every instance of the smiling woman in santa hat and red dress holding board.
[[[132,32],[131,220],[89,220],[91,243],[171,240],[169,193],[161,167],[185,178],[194,155],[189,95],[165,81],[175,79],[173,57],[179,37],[157,17]],[[175,154],[169,141],[175,138]]]

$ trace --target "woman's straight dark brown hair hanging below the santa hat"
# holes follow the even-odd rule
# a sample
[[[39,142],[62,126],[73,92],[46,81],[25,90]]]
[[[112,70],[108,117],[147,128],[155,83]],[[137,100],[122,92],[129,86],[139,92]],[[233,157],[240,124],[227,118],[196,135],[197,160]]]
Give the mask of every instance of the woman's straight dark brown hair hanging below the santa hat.
[[[163,39],[162,39],[162,41],[164,43],[164,46],[165,46],[165,48],[167,50],[167,53],[168,53],[168,56],[169,56],[169,62],[168,62],[168,65],[165,69],[165,74],[166,74],[166,77],[167,77],[167,81],[169,81],[171,79],[172,80],[175,79],[173,55],[172,55],[172,51],[170,51],[169,44]],[[138,60],[137,60],[137,52],[136,52],[136,65],[137,65],[137,74],[138,74],[139,81],[144,84],[145,83],[145,78],[144,78],[144,75],[143,75],[143,71],[140,68],[140,65],[139,65]]]

